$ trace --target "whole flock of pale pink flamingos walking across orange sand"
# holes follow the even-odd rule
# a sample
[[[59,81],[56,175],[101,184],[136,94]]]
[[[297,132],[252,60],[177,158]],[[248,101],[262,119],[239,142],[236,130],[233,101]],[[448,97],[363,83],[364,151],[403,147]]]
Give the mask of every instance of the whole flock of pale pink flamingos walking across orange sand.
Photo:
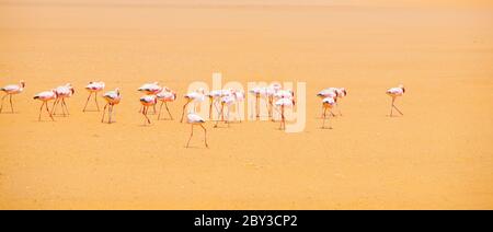
[[[20,81],[19,84],[9,84],[7,86],[3,86],[0,89],[0,91],[4,92],[4,95],[2,96],[1,106],[0,106],[0,113],[3,111],[3,102],[7,97],[9,97],[11,112],[13,113],[13,104],[12,104],[12,95],[20,94],[23,92],[25,88],[25,82]],[[85,86],[85,90],[89,92],[88,100],[85,102],[83,112],[87,111],[88,103],[91,100],[91,96],[93,96],[95,106],[98,111],[100,111],[100,106],[98,104],[98,94],[102,92],[105,88],[104,82],[89,82],[89,84]],[[169,119],[173,120],[173,116],[168,107],[168,103],[176,101],[176,92],[173,90],[159,85],[158,82],[153,83],[146,83],[141,85],[137,91],[144,93],[144,95],[140,97],[141,108],[139,113],[144,115],[145,118],[145,125],[151,124],[150,118],[148,117],[149,108],[152,107],[152,111],[154,114],[157,114],[156,105],[158,102],[161,102],[158,113],[158,120],[161,118],[161,112],[162,106],[165,106]],[[46,109],[48,116],[54,119],[54,115],[57,114],[57,108],[61,108],[61,115],[66,116],[69,115],[68,106],[66,103],[66,98],[71,97],[74,94],[74,89],[70,83],[67,83],[61,86],[57,86],[49,91],[44,91],[41,93],[37,93],[34,96],[34,100],[38,100],[42,102],[42,106],[39,108],[39,115],[38,120],[42,118],[43,109]],[[390,106],[390,116],[393,116],[393,109],[395,109],[400,115],[403,115],[402,112],[395,106],[395,98],[398,96],[402,96],[405,92],[405,89],[402,84],[400,84],[397,88],[391,88],[387,90],[386,94],[392,97],[391,106]],[[274,121],[273,112],[277,111],[280,115],[280,129],[286,128],[286,117],[285,117],[285,108],[293,107],[296,104],[295,101],[295,93],[291,90],[283,90],[280,84],[271,84],[270,86],[259,86],[253,88],[250,90],[250,93],[255,96],[256,103],[256,118],[260,118],[260,101],[261,98],[266,100],[267,102],[267,114],[268,118],[271,118]],[[317,96],[319,96],[322,100],[322,118],[323,118],[323,125],[322,128],[329,128],[332,129],[332,126],[329,125],[329,127],[325,127],[325,121],[328,119],[328,113],[330,115],[335,116],[333,113],[334,108],[337,108],[339,115],[342,116],[341,109],[339,108],[337,101],[344,96],[347,95],[347,91],[344,88],[329,88],[320,91]],[[117,105],[122,100],[122,94],[119,89],[115,89],[113,91],[105,92],[103,94],[103,98],[106,101],[106,104],[103,108],[103,117],[101,118],[101,123],[104,123],[106,111],[107,111],[107,123],[112,124],[112,115],[113,115],[113,106]],[[192,125],[191,135],[188,138],[188,141],[186,143],[186,148],[190,147],[190,142],[192,140],[192,137],[194,135],[194,126],[198,126],[204,130],[204,137],[205,137],[205,147],[208,148],[207,143],[207,129],[205,128],[204,124],[206,120],[200,117],[198,114],[196,114],[196,107],[198,103],[204,102],[206,98],[209,98],[209,119],[213,119],[213,107],[216,109],[215,112],[218,114],[218,117],[220,119],[216,120],[216,124],[214,127],[218,127],[218,124],[220,121],[226,123],[229,126],[230,120],[230,111],[231,108],[238,105],[244,101],[245,93],[243,91],[228,89],[228,90],[213,90],[208,93],[205,93],[203,89],[198,89],[196,91],[193,91],[191,93],[187,93],[184,95],[184,98],[186,100],[186,103],[183,105],[182,116],[180,121],[183,123],[186,107],[190,104],[193,104],[192,111],[188,112],[186,116],[186,123]],[[51,109],[48,107],[48,102],[55,101]],[[227,109],[227,111],[225,111]]]

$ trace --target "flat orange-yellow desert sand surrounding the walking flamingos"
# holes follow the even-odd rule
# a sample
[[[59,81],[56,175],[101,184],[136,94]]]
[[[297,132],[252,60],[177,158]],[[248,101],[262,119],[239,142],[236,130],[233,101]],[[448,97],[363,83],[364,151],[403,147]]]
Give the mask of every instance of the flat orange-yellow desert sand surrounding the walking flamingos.
[[[142,126],[159,81],[307,83],[305,131],[277,123]],[[0,0],[1,209],[493,209],[493,7],[488,1]],[[121,88],[115,124],[83,86]],[[72,83],[69,117],[34,94]],[[405,84],[388,117],[388,88]],[[323,88],[342,117],[320,129]],[[100,106],[103,101],[100,98]],[[90,105],[94,109],[93,105]],[[10,108],[7,107],[7,111]]]

